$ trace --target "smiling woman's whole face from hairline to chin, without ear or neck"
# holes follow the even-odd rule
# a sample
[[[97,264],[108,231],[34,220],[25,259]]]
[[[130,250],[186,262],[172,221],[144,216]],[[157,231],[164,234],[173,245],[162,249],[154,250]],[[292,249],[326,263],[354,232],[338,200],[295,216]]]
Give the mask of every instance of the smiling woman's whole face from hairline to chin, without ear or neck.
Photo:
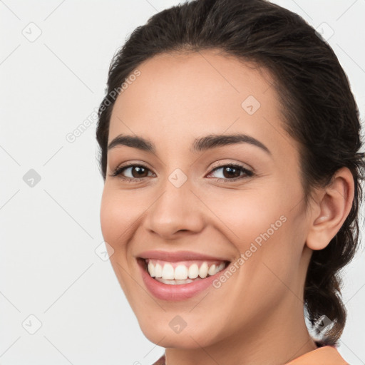
[[[309,219],[269,74],[214,51],[138,70],[110,119],[101,228],[145,336],[197,348],[286,326]]]

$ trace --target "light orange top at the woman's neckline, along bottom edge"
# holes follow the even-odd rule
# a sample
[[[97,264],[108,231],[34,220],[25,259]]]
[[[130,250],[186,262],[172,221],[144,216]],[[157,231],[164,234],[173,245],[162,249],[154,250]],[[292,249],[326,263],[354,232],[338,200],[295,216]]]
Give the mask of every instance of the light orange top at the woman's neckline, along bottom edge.
[[[165,355],[161,356],[153,365],[165,365]],[[336,347],[323,346],[284,365],[349,365],[349,363],[342,359]]]

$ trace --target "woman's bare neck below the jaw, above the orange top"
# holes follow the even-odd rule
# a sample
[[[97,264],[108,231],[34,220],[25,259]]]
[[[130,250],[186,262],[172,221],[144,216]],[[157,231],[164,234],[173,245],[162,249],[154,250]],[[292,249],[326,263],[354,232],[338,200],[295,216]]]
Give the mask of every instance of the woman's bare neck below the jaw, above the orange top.
[[[291,314],[282,306],[281,312],[256,319],[240,333],[205,348],[197,344],[195,349],[166,349],[166,365],[279,365],[317,349],[304,322],[302,302],[294,296],[289,302],[289,307],[295,306]]]

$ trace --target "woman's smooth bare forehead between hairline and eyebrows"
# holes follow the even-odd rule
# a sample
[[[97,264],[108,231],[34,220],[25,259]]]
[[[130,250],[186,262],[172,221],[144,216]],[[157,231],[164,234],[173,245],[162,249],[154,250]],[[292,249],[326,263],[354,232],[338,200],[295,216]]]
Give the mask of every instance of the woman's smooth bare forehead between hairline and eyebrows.
[[[205,50],[163,53],[138,71],[115,101],[109,142],[127,133],[171,148],[200,135],[246,133],[273,148],[294,145],[273,79],[255,63]]]

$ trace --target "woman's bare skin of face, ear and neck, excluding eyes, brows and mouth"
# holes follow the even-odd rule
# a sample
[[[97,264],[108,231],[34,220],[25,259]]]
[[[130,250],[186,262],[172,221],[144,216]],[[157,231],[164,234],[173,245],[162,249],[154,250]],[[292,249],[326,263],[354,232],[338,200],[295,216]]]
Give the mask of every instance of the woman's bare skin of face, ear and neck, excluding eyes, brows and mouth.
[[[156,153],[108,151],[101,228],[143,333],[166,348],[168,365],[285,364],[316,349],[304,322],[304,279],[312,250],[326,247],[349,214],[351,173],[339,170],[305,210],[299,145],[282,128],[277,93],[263,69],[214,50],[163,54],[138,69],[115,101],[108,140],[138,135]],[[261,104],[253,115],[241,106],[250,95]],[[271,155],[248,143],[190,152],[195,138],[233,133],[251,135]],[[223,169],[213,171],[217,162],[255,175],[230,182]],[[110,176],[124,163],[142,163],[150,172],[137,183]],[[179,188],[168,180],[176,168],[187,177]],[[124,175],[138,177],[130,168]],[[235,262],[282,215],[286,222],[219,289],[178,302],[146,289],[140,252],[190,250]],[[169,326],[177,315],[186,322],[180,333]]]

